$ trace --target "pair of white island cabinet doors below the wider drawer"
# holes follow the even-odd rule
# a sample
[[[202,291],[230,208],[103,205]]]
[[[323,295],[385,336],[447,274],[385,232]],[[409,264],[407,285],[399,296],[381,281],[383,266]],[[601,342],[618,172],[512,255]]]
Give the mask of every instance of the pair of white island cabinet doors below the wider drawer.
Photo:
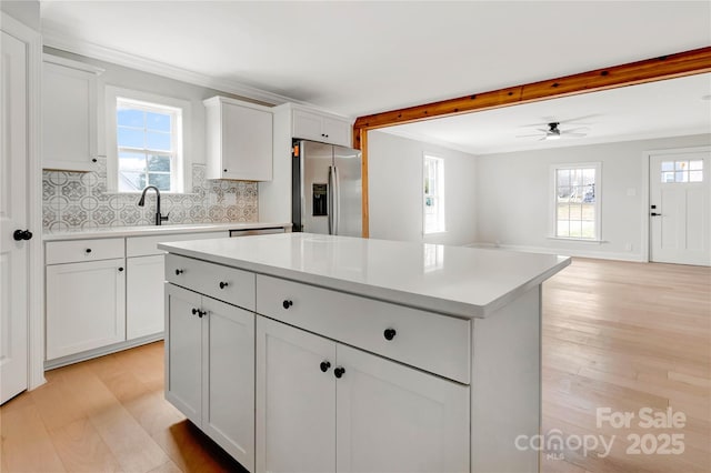
[[[469,471],[469,386],[257,316],[258,472]]]

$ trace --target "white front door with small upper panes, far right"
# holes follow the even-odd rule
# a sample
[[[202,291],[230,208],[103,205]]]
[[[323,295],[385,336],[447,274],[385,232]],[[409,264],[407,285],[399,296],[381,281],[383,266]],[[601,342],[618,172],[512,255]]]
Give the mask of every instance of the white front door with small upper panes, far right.
[[[711,151],[650,157],[651,261],[711,265]]]

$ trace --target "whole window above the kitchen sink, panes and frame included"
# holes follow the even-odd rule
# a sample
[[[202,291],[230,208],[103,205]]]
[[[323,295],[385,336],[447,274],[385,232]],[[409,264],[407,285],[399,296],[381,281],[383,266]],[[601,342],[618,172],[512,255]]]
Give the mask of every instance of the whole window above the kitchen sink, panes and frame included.
[[[184,192],[190,102],[107,87],[107,172],[113,192]]]

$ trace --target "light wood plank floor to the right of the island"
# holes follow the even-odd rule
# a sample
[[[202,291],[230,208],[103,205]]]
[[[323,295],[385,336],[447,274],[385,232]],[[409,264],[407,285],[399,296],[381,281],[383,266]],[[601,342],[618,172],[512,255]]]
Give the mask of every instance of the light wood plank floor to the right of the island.
[[[543,285],[542,355],[542,431],[573,446],[544,452],[542,471],[711,472],[710,268],[575,259]],[[632,412],[630,427],[598,427],[599,407]],[[641,427],[643,407],[683,412],[685,425]],[[632,453],[635,434],[647,454]],[[654,453],[671,434],[683,453]],[[612,441],[610,454],[583,454],[585,435]]]

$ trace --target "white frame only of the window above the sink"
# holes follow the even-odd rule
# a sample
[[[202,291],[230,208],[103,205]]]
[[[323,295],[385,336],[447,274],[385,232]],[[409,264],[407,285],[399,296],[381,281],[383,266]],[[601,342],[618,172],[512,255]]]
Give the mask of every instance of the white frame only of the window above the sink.
[[[180,119],[177,132],[173,133],[176,142],[176,165],[171,169],[170,193],[189,193],[192,190],[192,162],[190,127],[192,123],[192,107],[190,101],[172,97],[158,95],[138,90],[121,89],[113,85],[106,87],[106,148],[107,148],[107,191],[111,193],[137,193],[119,190],[119,154],[117,143],[117,100],[123,100],[160,109],[180,110]],[[163,192],[168,193],[168,192]]]

